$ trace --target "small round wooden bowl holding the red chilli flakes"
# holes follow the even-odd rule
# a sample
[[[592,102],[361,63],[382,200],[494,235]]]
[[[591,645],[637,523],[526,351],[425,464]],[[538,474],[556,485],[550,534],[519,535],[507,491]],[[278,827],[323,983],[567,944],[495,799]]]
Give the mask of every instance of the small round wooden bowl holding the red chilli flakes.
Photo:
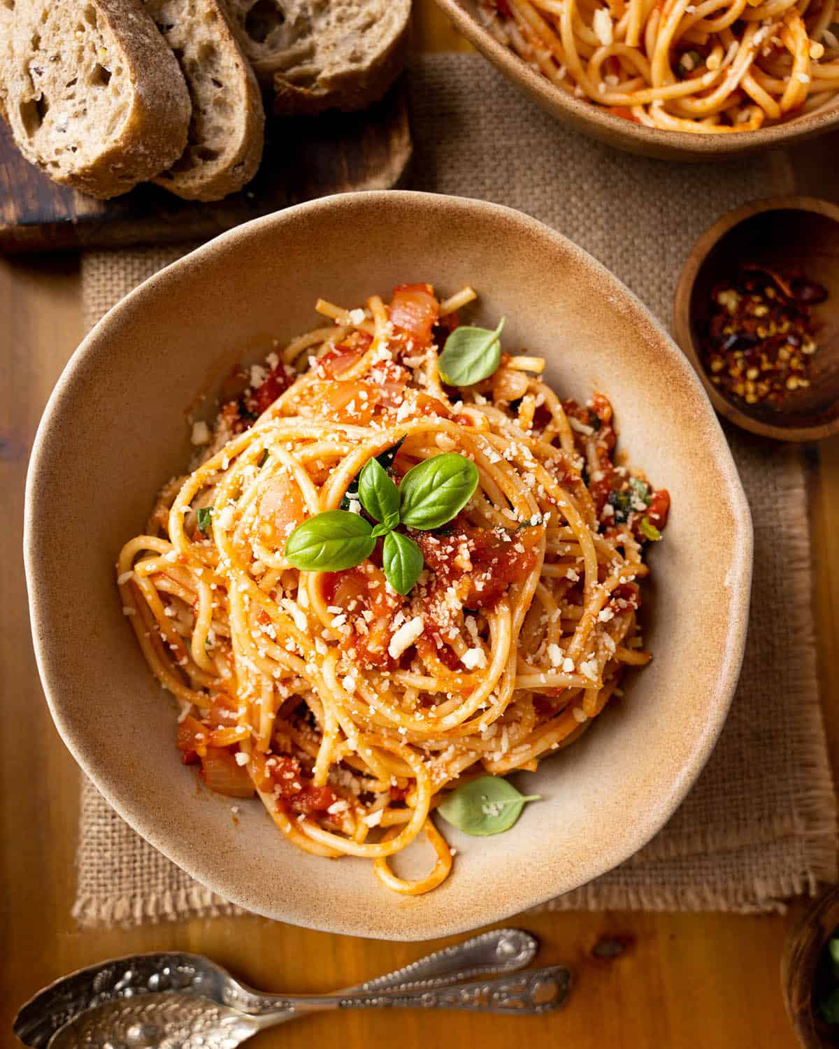
[[[743,262],[801,271],[827,290],[827,299],[816,307],[820,326],[811,385],[781,408],[729,399],[700,357],[698,325],[707,318],[711,288]],[[732,423],[777,441],[817,441],[839,432],[839,208],[812,197],[772,197],[724,215],[685,262],[673,300],[673,331],[714,408]]]

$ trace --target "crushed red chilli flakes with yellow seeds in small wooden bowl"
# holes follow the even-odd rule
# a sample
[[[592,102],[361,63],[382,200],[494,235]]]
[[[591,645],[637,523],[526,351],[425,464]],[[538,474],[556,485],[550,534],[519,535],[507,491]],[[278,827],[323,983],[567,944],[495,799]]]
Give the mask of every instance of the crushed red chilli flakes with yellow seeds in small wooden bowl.
[[[747,263],[711,290],[700,350],[711,382],[747,404],[779,407],[811,383],[818,346],[811,306],[827,292],[801,274]]]

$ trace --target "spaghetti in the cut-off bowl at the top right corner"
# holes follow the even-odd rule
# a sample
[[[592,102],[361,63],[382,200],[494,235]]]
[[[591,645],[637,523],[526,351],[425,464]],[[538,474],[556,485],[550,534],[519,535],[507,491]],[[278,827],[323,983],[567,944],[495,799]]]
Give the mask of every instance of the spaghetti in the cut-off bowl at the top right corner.
[[[836,0],[481,0],[561,90],[647,127],[753,131],[835,104]]]

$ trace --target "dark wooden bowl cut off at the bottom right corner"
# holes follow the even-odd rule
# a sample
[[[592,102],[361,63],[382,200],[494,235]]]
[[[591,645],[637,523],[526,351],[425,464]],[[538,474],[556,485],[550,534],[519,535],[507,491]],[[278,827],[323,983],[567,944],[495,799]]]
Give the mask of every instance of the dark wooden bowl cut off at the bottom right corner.
[[[839,886],[826,890],[801,915],[783,945],[780,982],[783,1003],[803,1049],[835,1049],[835,1037],[818,1029],[813,1011],[813,986],[819,959],[831,934],[839,926]]]

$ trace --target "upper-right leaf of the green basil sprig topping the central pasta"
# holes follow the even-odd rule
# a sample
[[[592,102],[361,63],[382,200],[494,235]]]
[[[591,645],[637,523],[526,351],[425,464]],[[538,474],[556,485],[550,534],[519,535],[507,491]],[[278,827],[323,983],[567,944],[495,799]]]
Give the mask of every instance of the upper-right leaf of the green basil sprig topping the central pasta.
[[[478,468],[465,455],[446,452],[417,463],[400,485],[400,517],[409,528],[439,528],[456,516],[478,487]]]

